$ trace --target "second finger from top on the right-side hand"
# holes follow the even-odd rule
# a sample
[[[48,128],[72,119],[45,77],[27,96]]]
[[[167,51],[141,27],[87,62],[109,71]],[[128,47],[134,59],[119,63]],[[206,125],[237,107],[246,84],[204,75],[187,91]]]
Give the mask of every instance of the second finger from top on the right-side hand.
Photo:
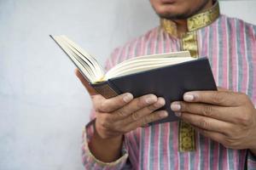
[[[224,122],[236,122],[236,117],[241,114],[232,107],[182,101],[172,102],[171,109],[174,112],[189,112],[191,114],[212,117]]]

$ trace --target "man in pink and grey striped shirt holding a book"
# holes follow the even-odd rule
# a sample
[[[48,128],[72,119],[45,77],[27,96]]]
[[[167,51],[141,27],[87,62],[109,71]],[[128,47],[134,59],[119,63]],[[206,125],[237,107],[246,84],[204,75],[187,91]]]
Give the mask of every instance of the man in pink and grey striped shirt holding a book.
[[[256,26],[220,15],[212,0],[150,3],[161,25],[117,48],[107,70],[139,55],[189,50],[194,57],[208,57],[222,88],[184,94],[183,101],[170,105],[182,121],[145,127],[166,117],[166,111],[158,111],[163,98],[121,94],[104,99],[76,71],[96,117],[84,129],[84,167],[255,169]]]

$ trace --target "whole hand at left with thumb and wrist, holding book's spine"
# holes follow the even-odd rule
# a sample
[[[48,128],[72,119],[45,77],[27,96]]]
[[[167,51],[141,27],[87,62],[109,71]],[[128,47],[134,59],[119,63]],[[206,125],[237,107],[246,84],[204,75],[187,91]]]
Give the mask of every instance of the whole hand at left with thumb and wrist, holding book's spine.
[[[96,111],[96,132],[89,147],[94,156],[101,161],[115,161],[119,158],[125,133],[168,115],[166,111],[156,111],[166,102],[154,94],[133,99],[132,94],[126,93],[105,99],[90,87],[78,70],[76,75],[89,92]]]

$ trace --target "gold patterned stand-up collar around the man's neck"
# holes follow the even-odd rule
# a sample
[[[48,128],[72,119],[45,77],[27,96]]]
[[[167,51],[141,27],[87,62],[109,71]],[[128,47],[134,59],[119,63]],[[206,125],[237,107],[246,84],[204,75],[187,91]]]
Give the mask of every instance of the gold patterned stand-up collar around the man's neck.
[[[195,14],[187,20],[188,31],[196,31],[202,27],[209,26],[219,17],[218,1],[212,8],[208,8],[199,14]],[[177,37],[177,26],[172,20],[161,19],[160,26],[170,35]]]

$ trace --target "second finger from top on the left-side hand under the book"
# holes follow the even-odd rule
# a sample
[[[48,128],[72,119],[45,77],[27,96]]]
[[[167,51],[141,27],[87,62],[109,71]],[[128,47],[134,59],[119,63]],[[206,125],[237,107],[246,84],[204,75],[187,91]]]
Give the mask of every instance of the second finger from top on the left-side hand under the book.
[[[137,99],[133,99],[128,105],[121,107],[119,110],[113,112],[113,122],[123,120],[132,113],[152,105],[157,101],[154,94],[147,94]]]

